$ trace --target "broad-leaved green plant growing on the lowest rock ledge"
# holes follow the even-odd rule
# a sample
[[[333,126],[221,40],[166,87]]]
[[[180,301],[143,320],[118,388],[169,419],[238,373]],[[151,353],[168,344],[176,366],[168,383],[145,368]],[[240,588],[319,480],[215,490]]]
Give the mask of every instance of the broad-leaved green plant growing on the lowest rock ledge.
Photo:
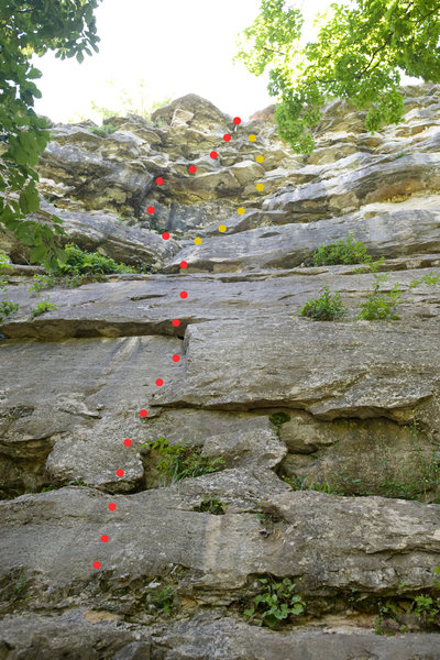
[[[260,593],[252,598],[252,605],[243,612],[244,617],[258,626],[275,628],[282,622],[287,623],[293,616],[300,616],[306,610],[306,603],[296,595],[295,584],[289,578],[278,581],[272,575],[258,578]]]

